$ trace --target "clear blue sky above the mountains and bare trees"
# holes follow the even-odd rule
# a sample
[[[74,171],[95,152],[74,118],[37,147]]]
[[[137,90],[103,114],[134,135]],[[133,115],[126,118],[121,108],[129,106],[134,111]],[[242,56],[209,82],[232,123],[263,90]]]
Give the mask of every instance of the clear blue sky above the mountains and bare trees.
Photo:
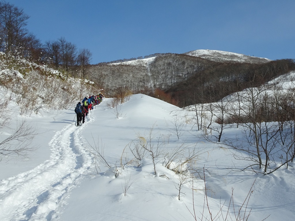
[[[44,43],[60,37],[92,64],[198,49],[295,59],[294,0],[7,0]]]

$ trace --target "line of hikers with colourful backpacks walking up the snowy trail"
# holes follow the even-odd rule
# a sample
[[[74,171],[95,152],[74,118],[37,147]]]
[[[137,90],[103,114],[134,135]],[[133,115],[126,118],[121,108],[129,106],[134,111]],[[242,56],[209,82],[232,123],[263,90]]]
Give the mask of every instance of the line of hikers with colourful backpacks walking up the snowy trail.
[[[88,115],[90,110],[93,110],[95,105],[99,105],[102,102],[102,98],[104,95],[99,93],[98,95],[89,96],[89,98],[85,97],[81,102],[76,105],[75,113],[77,114],[77,125],[81,126],[85,122],[85,116]]]

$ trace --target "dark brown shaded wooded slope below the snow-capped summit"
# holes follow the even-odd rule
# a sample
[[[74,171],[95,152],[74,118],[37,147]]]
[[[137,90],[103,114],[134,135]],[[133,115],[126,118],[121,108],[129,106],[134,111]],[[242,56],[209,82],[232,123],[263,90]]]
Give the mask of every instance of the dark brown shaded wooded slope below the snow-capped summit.
[[[177,100],[180,107],[216,102],[231,93],[257,87],[292,70],[295,70],[295,62],[291,59],[264,64],[215,63],[196,71],[192,77],[172,86],[165,93]]]

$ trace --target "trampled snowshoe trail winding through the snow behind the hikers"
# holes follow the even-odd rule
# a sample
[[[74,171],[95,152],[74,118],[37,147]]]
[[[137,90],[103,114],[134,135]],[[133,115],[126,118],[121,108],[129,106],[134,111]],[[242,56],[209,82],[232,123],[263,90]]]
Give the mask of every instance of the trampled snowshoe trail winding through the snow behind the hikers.
[[[35,169],[0,184],[1,221],[48,221],[77,179],[91,165],[91,156],[79,135],[88,122],[58,131],[50,141],[50,159]]]

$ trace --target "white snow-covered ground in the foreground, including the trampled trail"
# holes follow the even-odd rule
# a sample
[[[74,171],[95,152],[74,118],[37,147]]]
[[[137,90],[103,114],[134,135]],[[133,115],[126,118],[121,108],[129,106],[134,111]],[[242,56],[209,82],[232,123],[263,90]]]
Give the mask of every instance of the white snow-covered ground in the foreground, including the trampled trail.
[[[293,167],[265,176],[234,172],[231,168],[244,168],[248,162],[198,138],[200,132],[192,125],[181,124],[178,139],[175,125],[180,121],[175,120],[186,118],[180,108],[146,95],[132,95],[117,109],[108,108],[110,101],[105,99],[96,106],[80,127],[75,125],[74,107],[26,118],[39,130],[33,140],[39,149],[30,158],[0,161],[1,221],[195,220],[194,214],[198,220],[206,220],[202,214],[209,219],[207,204],[213,217],[224,204],[223,214],[229,210],[235,220],[234,214],[255,179],[247,205],[249,220],[268,216],[266,220],[271,221],[295,219]],[[14,122],[13,118],[10,124]],[[225,132],[233,136],[240,133],[237,128]],[[2,129],[0,136],[5,136]],[[149,154],[125,165],[132,159],[129,147],[140,142],[154,145],[154,150],[158,147],[162,156],[179,147],[197,152],[195,168],[200,176],[186,180],[164,167],[160,159],[155,174]],[[111,168],[89,152],[95,149]],[[95,164],[95,159],[101,161]],[[232,202],[228,207],[232,189],[235,210]]]

